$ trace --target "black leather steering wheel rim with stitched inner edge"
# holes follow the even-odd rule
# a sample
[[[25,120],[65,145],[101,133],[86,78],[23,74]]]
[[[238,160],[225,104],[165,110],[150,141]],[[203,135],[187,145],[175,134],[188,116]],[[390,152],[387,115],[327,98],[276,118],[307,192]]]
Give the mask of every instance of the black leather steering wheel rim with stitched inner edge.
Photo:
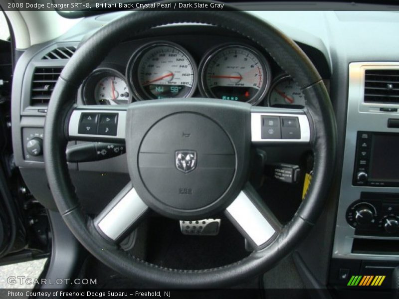
[[[280,67],[300,85],[307,99],[306,113],[313,121],[314,176],[294,218],[266,248],[236,263],[207,270],[176,270],[149,264],[102,238],[91,218],[80,209],[65,156],[65,121],[83,79],[108,53],[110,45],[169,23],[194,22],[219,26],[251,39],[265,48]],[[121,34],[123,33],[123,34]],[[328,197],[335,163],[336,125],[326,87],[304,52],[282,32],[240,11],[141,11],[121,17],[91,36],[63,69],[52,93],[44,131],[44,158],[49,186],[65,223],[97,259],[126,277],[171,288],[220,288],[269,270],[306,236]],[[105,250],[100,250],[105,249]]]

